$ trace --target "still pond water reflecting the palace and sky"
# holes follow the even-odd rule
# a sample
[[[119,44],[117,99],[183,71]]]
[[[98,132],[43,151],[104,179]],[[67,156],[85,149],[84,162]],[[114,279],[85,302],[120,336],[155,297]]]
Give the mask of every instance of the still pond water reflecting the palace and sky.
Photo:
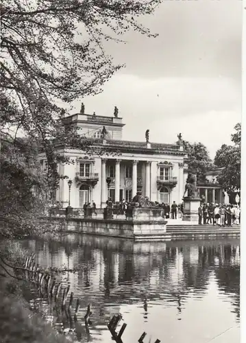
[[[78,342],[112,342],[107,324],[122,314],[123,343],[239,343],[240,248],[238,239],[134,243],[108,237],[69,235],[58,242],[23,241],[43,267],[74,268],[61,277],[81,301],[78,322],[69,324],[40,310],[53,326]],[[37,306],[36,292],[29,293]],[[84,327],[88,303],[93,314]],[[42,309],[41,309],[42,307]],[[121,324],[123,323],[121,322]]]

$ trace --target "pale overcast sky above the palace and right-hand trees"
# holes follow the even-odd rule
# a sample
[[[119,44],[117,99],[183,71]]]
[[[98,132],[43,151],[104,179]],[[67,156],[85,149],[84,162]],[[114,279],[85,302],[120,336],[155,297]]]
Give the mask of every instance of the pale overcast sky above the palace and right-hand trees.
[[[122,69],[103,93],[83,99],[86,113],[126,124],[123,139],[173,143],[182,132],[214,157],[241,121],[241,0],[164,0],[142,21],[158,38],[135,32],[108,52]],[[76,105],[80,109],[79,99]]]

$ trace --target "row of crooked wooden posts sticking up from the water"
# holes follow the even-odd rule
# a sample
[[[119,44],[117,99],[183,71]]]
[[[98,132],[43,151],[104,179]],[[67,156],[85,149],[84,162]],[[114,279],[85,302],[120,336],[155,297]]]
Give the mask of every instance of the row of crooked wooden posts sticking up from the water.
[[[34,283],[36,283],[39,290],[41,290],[43,285],[45,285],[45,290],[47,292],[47,295],[51,296],[51,298],[53,300],[55,300],[55,302],[57,304],[58,303],[58,296],[59,296],[59,294],[61,292],[61,288],[62,288],[62,283],[61,282],[57,283],[56,278],[53,278],[53,280],[52,280],[51,274],[42,271],[41,268],[38,265],[36,265],[36,263],[34,262],[34,259],[35,259],[34,253],[30,257],[27,257],[25,259],[25,268],[24,269],[27,272],[27,278],[29,278],[30,281],[34,281]],[[68,295],[69,295],[69,290],[70,290],[70,285],[66,286],[63,289],[61,307],[62,307],[62,311],[67,310],[69,312],[69,314],[71,314],[71,307],[73,305],[73,295],[74,294],[73,294],[73,292],[71,292],[70,298],[69,298],[69,305],[66,308],[66,300],[67,300]],[[74,314],[75,321],[77,321],[77,313],[79,311],[79,307],[80,307],[79,298],[77,298],[76,306],[75,306],[75,314]],[[91,304],[88,304],[86,315],[84,316],[84,320],[85,320],[85,324],[86,324],[87,329],[88,329],[88,325],[90,324],[90,316],[92,314],[93,313],[91,311]],[[127,324],[123,323],[119,332],[116,332],[116,328],[118,327],[121,320],[122,320],[122,316],[120,314],[117,316],[113,316],[107,325],[108,329],[112,335],[112,340],[114,340],[116,343],[123,343],[123,341],[121,340],[121,337],[123,335],[123,332],[125,331],[125,328],[127,327]],[[143,332],[143,334],[140,335],[138,342],[139,343],[145,343],[143,340],[145,339],[146,335],[147,335],[147,333]],[[149,343],[150,343],[150,341],[149,341]],[[160,343],[160,340],[157,339],[154,343]]]

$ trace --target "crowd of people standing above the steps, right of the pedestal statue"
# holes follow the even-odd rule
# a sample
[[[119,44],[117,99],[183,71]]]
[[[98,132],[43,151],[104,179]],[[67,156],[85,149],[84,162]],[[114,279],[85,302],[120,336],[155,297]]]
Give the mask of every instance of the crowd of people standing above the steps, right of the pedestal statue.
[[[239,205],[204,203],[198,208],[198,217],[199,225],[239,225],[241,222],[241,209]]]

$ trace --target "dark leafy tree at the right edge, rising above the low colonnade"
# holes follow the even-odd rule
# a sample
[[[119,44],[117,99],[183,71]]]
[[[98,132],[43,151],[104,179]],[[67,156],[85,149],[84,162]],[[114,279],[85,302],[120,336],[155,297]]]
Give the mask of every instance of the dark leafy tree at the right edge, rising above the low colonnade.
[[[214,157],[214,165],[223,168],[218,181],[229,194],[241,189],[241,123],[234,130],[231,136],[234,145],[221,145]]]

